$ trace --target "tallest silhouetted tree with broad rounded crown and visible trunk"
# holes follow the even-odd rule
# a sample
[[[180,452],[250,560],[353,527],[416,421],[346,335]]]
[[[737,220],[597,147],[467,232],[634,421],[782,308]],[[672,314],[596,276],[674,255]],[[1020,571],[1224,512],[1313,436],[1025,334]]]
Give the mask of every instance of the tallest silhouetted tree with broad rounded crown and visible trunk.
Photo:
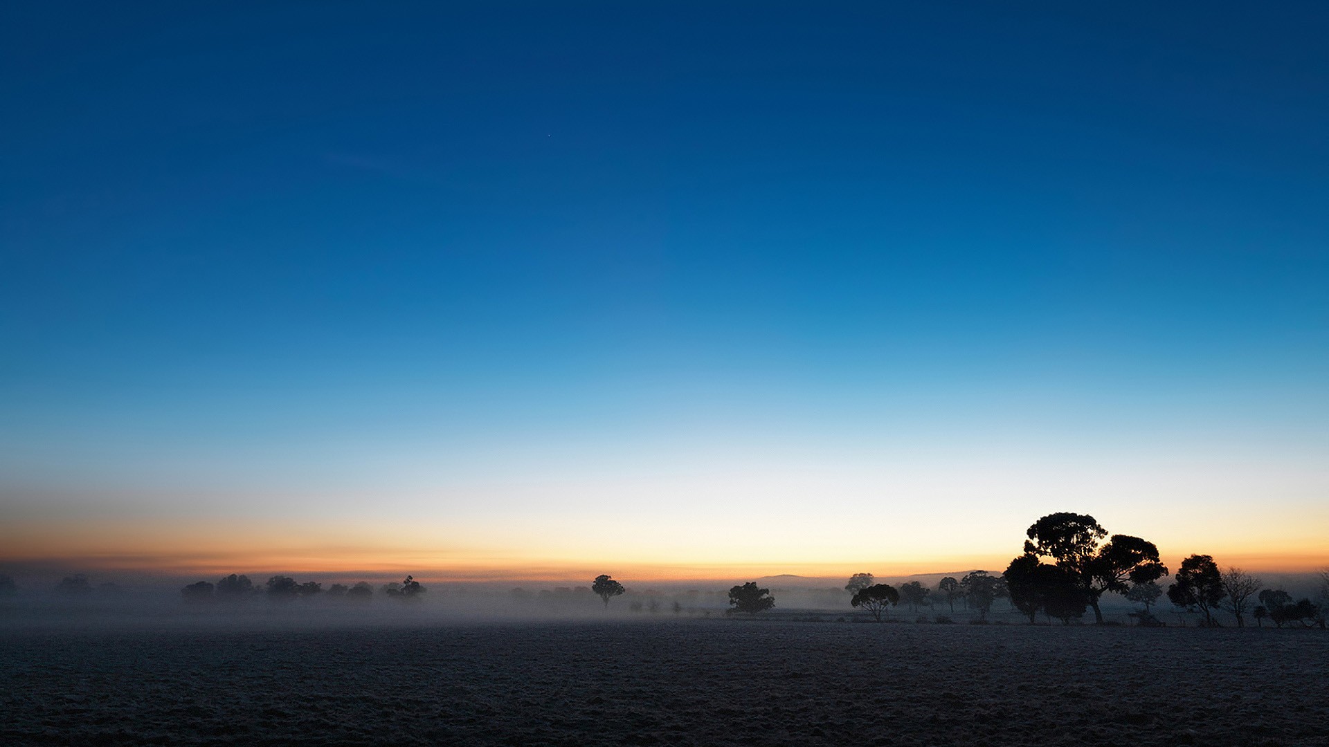
[[[1099,546],[1099,541],[1107,537],[1107,529],[1088,514],[1051,513],[1031,524],[1027,534],[1031,542],[1025,542],[1025,552],[1051,557],[1058,568],[1075,576],[1099,623],[1103,622],[1103,611],[1098,599],[1104,591],[1126,593],[1130,589],[1127,581],[1144,584],[1167,576],[1167,566],[1159,561],[1154,542],[1114,534]]]

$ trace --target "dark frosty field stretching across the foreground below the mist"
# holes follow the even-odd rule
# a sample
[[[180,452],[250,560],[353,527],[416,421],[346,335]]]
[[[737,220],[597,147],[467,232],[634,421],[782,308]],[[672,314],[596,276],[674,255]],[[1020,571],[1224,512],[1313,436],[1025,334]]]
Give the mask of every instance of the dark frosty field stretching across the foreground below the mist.
[[[1329,744],[1326,671],[1318,630],[5,630],[0,744]]]

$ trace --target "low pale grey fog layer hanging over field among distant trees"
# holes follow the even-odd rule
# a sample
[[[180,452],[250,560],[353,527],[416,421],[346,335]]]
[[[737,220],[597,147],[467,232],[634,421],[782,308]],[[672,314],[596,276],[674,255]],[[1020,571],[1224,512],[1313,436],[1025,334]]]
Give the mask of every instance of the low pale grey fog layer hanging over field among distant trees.
[[[957,578],[998,573],[964,572],[912,577],[872,578],[856,574],[848,580],[779,576],[756,580],[759,591],[773,605],[758,615],[739,618],[869,622],[867,606],[852,603],[853,590],[864,584],[904,590],[892,603],[882,605],[882,622],[1029,622],[994,584],[995,595],[987,607],[971,599]],[[359,626],[428,625],[449,621],[659,621],[723,619],[735,617],[731,586],[727,582],[623,584],[615,591],[597,594],[598,580],[585,584],[421,582],[401,581],[312,581],[298,576],[274,574],[260,580],[231,574],[222,578],[183,582],[72,574],[0,576],[0,626],[7,627],[85,627],[85,626]],[[320,576],[320,578],[326,578]],[[952,581],[948,586],[948,580]],[[615,584],[613,580],[609,584]],[[1320,574],[1277,574],[1265,585],[1286,598],[1320,599],[1329,594]],[[1196,610],[1170,605],[1166,597],[1150,599],[1154,615],[1167,625],[1203,623]],[[1110,623],[1132,623],[1142,602],[1124,594],[1110,594],[1102,602]],[[1248,611],[1249,619],[1249,611]],[[1091,622],[1092,618],[1063,621]],[[1049,618],[1049,622],[1050,618]],[[1232,617],[1216,613],[1216,622],[1232,625]]]

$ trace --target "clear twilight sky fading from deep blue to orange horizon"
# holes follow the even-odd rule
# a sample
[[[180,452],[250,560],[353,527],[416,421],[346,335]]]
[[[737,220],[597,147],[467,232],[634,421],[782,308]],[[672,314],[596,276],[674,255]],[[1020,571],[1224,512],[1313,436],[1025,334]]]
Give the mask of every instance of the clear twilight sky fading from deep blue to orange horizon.
[[[1326,36],[9,4],[0,570],[1329,565]]]

